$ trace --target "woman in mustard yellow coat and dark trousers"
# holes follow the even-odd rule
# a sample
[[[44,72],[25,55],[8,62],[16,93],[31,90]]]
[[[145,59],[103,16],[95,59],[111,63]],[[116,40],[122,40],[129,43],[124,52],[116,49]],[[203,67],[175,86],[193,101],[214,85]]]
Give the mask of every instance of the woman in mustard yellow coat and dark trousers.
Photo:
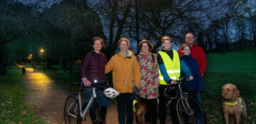
[[[127,38],[121,38],[118,41],[118,45],[120,50],[107,63],[105,74],[113,71],[113,86],[120,93],[117,96],[119,124],[125,124],[125,114],[127,118],[126,124],[133,124],[133,99],[130,97],[132,96],[134,86],[139,87],[140,84],[139,63],[133,52],[127,50],[129,46]]]

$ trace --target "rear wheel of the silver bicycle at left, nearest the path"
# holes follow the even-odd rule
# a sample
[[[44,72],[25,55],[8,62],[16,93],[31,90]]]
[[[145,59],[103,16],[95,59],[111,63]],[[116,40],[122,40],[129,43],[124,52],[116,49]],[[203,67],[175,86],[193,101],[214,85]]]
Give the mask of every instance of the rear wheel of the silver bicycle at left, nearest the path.
[[[81,121],[77,121],[78,116],[80,116],[78,101],[75,100],[74,95],[69,95],[64,106],[65,124],[81,124]]]

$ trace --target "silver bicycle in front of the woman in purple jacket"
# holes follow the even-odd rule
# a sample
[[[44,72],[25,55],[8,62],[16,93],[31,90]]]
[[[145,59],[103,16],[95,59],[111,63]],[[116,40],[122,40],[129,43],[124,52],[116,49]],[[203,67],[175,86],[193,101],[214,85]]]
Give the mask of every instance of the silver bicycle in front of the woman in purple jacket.
[[[91,82],[92,90],[81,92],[81,88],[83,88],[84,84],[82,81],[80,83],[73,83],[74,85],[77,85],[78,88],[78,94],[75,95],[69,95],[65,101],[64,106],[64,120],[65,124],[81,124],[82,121],[85,121],[85,115],[89,110],[89,107],[93,104],[93,111],[95,111],[95,108],[97,109],[97,114],[95,116],[94,114],[94,122],[93,124],[100,124],[103,120],[100,117],[100,109],[99,109],[99,102],[97,100],[97,90],[96,88],[99,86],[100,83],[105,83],[105,81],[94,81]],[[92,92],[92,98],[87,103],[85,110],[82,112],[82,104],[81,104],[81,95],[85,93]],[[98,118],[97,118],[98,117]]]

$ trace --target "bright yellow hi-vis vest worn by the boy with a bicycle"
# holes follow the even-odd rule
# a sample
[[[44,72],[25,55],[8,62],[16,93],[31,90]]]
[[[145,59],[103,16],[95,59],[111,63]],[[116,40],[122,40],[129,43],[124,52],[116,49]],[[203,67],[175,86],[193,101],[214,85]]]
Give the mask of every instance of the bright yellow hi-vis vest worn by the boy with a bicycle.
[[[158,53],[161,55],[162,60],[164,62],[164,66],[166,68],[167,74],[172,80],[179,79],[180,76],[180,62],[179,62],[179,54],[175,50],[173,51],[173,59],[167,55],[166,52],[159,51]],[[159,69],[159,66],[158,66]],[[164,81],[164,76],[161,74],[159,69],[159,82],[162,85],[167,85],[167,83]]]

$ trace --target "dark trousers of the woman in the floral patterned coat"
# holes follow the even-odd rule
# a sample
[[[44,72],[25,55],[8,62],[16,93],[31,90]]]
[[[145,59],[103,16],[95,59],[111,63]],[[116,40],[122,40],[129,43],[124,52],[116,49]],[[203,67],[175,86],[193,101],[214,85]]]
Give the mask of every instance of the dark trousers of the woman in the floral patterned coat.
[[[157,124],[157,98],[147,99],[140,98],[141,102],[144,103],[149,112],[145,113],[146,122],[151,122],[152,124]]]

